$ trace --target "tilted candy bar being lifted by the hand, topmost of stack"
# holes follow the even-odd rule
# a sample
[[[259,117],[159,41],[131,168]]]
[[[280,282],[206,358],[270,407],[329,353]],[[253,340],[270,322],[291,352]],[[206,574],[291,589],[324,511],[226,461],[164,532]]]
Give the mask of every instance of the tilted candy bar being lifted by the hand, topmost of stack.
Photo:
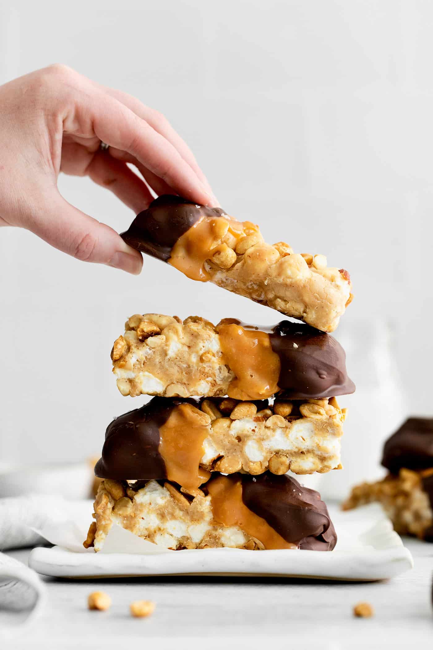
[[[324,255],[299,255],[286,242],[266,244],[258,226],[219,208],[160,196],[122,234],[127,244],[255,302],[334,331],[351,302],[351,279]]]

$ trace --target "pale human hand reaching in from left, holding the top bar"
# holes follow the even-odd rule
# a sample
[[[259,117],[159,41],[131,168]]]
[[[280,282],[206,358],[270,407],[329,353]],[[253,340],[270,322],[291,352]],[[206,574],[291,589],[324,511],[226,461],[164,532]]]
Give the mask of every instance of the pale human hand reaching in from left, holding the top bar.
[[[56,185],[60,172],[88,175],[138,213],[153,197],[127,162],[156,194],[217,205],[188,146],[138,99],[59,64],[0,86],[0,226],[27,228],[77,259],[140,273],[142,255]]]

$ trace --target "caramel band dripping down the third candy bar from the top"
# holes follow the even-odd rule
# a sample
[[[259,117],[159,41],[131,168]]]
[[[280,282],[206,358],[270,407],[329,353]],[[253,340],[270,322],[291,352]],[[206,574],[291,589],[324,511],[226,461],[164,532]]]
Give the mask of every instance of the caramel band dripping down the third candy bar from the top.
[[[192,404],[180,404],[160,426],[159,452],[167,478],[186,489],[197,489],[210,478],[210,472],[200,467],[203,441],[209,434],[203,415]]]

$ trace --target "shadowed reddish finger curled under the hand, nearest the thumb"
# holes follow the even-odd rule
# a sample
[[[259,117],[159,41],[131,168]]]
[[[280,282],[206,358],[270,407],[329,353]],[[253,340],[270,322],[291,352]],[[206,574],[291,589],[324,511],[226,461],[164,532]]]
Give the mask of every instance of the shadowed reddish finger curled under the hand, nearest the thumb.
[[[125,162],[114,159],[109,153],[97,151],[86,172],[92,181],[111,190],[136,214],[153,201],[151,192],[138,175]]]

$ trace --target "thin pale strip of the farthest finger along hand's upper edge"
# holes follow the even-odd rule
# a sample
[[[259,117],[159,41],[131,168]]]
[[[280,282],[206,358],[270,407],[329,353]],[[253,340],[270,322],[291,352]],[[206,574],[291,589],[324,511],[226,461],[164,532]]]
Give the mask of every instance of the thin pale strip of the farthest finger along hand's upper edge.
[[[112,97],[125,104],[125,106],[127,106],[136,115],[138,115],[138,117],[142,118],[142,120],[145,120],[148,124],[150,124],[151,127],[163,135],[166,140],[171,142],[173,147],[179,151],[184,161],[188,162],[190,167],[194,170],[195,174],[197,174],[202,183],[204,183],[208,191],[212,193],[212,188],[209,185],[208,179],[197,164],[197,161],[195,160],[191,149],[188,147],[186,142],[182,140],[179,133],[173,129],[164,115],[154,109],[149,108],[148,106],[145,106],[139,99],[127,94],[126,92],[108,87],[106,87],[105,90]]]

